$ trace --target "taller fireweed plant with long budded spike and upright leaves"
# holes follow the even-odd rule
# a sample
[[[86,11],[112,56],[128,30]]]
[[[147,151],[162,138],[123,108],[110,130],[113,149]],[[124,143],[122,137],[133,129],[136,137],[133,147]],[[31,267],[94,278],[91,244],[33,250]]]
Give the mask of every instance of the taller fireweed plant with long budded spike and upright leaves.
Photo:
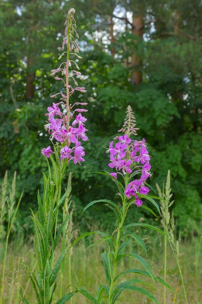
[[[75,91],[85,92],[85,88],[78,87],[76,81],[76,79],[84,78],[78,71],[79,67],[76,63],[77,59],[81,57],[77,54],[79,46],[74,39],[74,35],[78,38],[74,14],[75,10],[71,9],[65,21],[65,36],[62,45],[64,53],[59,57],[59,60],[64,55],[66,60],[57,69],[51,71],[53,76],[61,74],[61,77],[56,76],[55,80],[61,81],[64,89],[51,96],[52,98],[60,96],[60,102],[49,106],[47,108],[48,113],[45,114],[47,116],[45,129],[51,134],[50,139],[53,148],[49,145],[41,151],[47,161],[48,175],[46,176],[43,173],[44,190],[42,200],[38,193],[38,211],[36,214],[32,212],[38,262],[37,276],[24,263],[38,304],[52,304],[61,263],[71,248],[71,245],[63,248],[61,255],[55,262],[54,252],[61,235],[66,235],[66,224],[71,216],[71,214],[64,216],[63,223],[57,231],[58,210],[60,206],[64,205],[65,199],[71,191],[71,187],[69,187],[61,197],[62,181],[69,162],[80,165],[84,161],[85,151],[81,141],[87,140],[85,134],[87,129],[84,126],[86,118],[81,115],[82,112],[87,110],[75,108],[76,105],[85,106],[87,103],[76,102],[73,105],[70,103],[70,98]],[[70,70],[72,66],[74,69]],[[77,240],[74,243],[76,242]],[[57,303],[65,303],[75,292],[77,290],[64,295]],[[21,297],[25,303],[28,303],[22,294]]]

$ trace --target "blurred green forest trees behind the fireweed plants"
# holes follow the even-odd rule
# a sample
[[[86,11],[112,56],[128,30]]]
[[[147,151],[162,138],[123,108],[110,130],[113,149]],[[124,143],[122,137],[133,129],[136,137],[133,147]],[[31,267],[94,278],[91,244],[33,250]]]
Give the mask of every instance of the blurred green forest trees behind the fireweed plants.
[[[0,178],[8,170],[12,179],[17,171],[19,196],[25,188],[15,229],[25,237],[32,233],[30,208],[37,206],[37,189],[42,190],[42,171],[47,170],[40,151],[50,144],[44,114],[53,102],[49,96],[61,90],[50,71],[58,67],[64,21],[73,7],[85,77],[79,85],[87,92],[75,93],[72,101],[88,102],[89,130],[85,162],[68,168],[75,227],[83,231],[89,225],[106,229],[114,224],[114,215],[102,205],[85,217],[81,211],[96,199],[118,202],[114,183],[90,172],[111,170],[106,149],[130,104],[140,128],[138,139],[148,143],[153,172],[149,184],[155,190],[171,170],[177,226],[185,236],[193,233],[202,215],[201,1],[0,3]],[[141,208],[131,210],[130,220],[150,218]]]

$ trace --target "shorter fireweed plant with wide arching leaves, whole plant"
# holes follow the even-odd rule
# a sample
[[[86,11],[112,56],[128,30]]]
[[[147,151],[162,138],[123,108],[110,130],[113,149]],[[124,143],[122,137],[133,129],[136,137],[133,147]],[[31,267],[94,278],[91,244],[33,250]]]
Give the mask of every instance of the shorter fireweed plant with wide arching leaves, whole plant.
[[[150,291],[137,286],[137,284],[140,284],[140,286],[141,284],[143,284],[147,287],[151,287],[154,290],[157,290],[155,284],[156,282],[159,282],[173,290],[164,280],[162,280],[160,277],[155,276],[151,272],[149,265],[141,256],[135,253],[128,253],[127,251],[125,252],[128,245],[133,242],[136,242],[143,248],[146,254],[146,246],[143,240],[137,234],[129,230],[132,227],[148,227],[167,236],[165,232],[146,223],[131,223],[124,226],[124,222],[127,217],[127,212],[129,208],[132,208],[134,206],[145,208],[155,215],[153,210],[143,204],[142,199],[146,199],[153,203],[157,208],[158,212],[160,213],[159,206],[154,201],[154,198],[159,198],[156,196],[148,195],[149,187],[147,187],[146,179],[151,175],[149,164],[150,156],[147,151],[145,140],[143,139],[141,141],[137,141],[134,139],[134,136],[137,135],[137,130],[138,129],[136,128],[132,108],[128,106],[125,123],[123,125],[123,128],[119,131],[122,132],[122,135],[115,137],[116,143],[112,141],[110,143],[109,149],[107,150],[107,152],[110,153],[109,167],[113,168],[114,172],[97,172],[111,177],[116,183],[118,187],[118,196],[122,202],[122,206],[119,207],[117,204],[109,200],[97,200],[89,203],[83,210],[84,212],[88,207],[92,206],[95,203],[105,202],[107,206],[109,206],[113,210],[116,217],[118,218],[118,226],[116,227],[112,235],[110,235],[109,233],[94,232],[99,233],[100,235],[102,235],[103,238],[97,241],[96,243],[90,245],[93,246],[98,242],[102,242],[104,240],[107,240],[109,244],[108,252],[104,252],[101,254],[105,268],[107,285],[99,284],[96,292],[96,298],[85,293],[85,296],[92,303],[95,304],[103,303],[102,298],[104,293],[108,299],[106,300],[106,303],[114,304],[122,293],[122,291],[124,290],[137,291],[150,298],[150,300],[154,303],[158,303],[158,300]],[[118,176],[121,177],[123,182],[118,180]],[[136,259],[142,264],[145,270],[129,269],[125,272],[118,273],[119,262],[121,259],[126,257]],[[123,281],[123,275],[127,274],[138,274],[147,276],[151,280],[153,280],[154,285],[148,284],[139,279]]]

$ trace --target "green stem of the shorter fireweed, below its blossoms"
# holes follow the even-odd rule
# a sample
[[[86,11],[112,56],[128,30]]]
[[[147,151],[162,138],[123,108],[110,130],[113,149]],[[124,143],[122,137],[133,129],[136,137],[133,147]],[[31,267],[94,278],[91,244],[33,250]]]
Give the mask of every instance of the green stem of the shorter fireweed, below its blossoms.
[[[116,278],[118,249],[119,249],[120,236],[121,236],[121,233],[122,233],[122,228],[123,228],[125,217],[126,217],[126,203],[124,202],[123,203],[123,215],[122,215],[121,222],[119,223],[118,233],[117,233],[117,238],[116,238],[116,243],[115,243],[115,252],[114,252],[114,259],[113,259],[113,271],[112,271],[111,284],[110,284],[110,290],[109,290],[109,304],[112,303],[114,282],[115,282],[115,278]]]

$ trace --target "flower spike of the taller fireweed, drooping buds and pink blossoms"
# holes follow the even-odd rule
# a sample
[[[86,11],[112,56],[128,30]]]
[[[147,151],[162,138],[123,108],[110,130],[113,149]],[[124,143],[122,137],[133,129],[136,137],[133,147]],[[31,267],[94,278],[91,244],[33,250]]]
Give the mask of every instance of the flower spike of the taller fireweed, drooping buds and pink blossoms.
[[[84,80],[81,73],[75,69],[70,71],[70,67],[73,65],[74,68],[79,69],[78,64],[75,60],[70,60],[71,56],[76,56],[76,59],[80,59],[78,56],[79,46],[75,41],[74,35],[78,38],[78,34],[76,31],[76,21],[74,19],[75,9],[70,9],[67,18],[65,21],[65,35],[62,45],[63,54],[59,57],[59,60],[66,54],[66,61],[62,62],[57,69],[53,69],[51,72],[52,76],[55,76],[56,73],[61,73],[62,77],[55,77],[56,81],[62,81],[65,87],[64,90],[53,94],[51,97],[55,98],[60,96],[60,102],[53,103],[52,106],[48,106],[48,113],[45,115],[48,117],[48,122],[45,125],[45,128],[48,129],[49,134],[51,134],[51,140],[57,140],[59,144],[60,150],[60,159],[61,161],[70,160],[74,161],[74,164],[79,163],[80,161],[84,161],[81,156],[85,155],[83,147],[81,146],[80,139],[86,141],[88,138],[85,134],[87,129],[84,127],[86,118],[81,115],[82,112],[86,112],[86,109],[74,108],[76,105],[85,106],[86,102],[80,103],[75,102],[73,105],[70,104],[70,96],[75,91],[80,91],[81,93],[85,93],[84,87],[78,87],[77,79]],[[74,58],[73,58],[74,59]],[[65,77],[65,79],[63,79]],[[63,106],[63,111],[59,106]],[[79,112],[78,115],[74,118],[74,113]],[[73,120],[74,119],[74,120]],[[73,120],[72,126],[70,125]],[[79,149],[78,149],[79,146]],[[81,154],[78,157],[78,150],[81,151]],[[43,148],[41,150],[42,154],[47,158],[51,156],[53,151],[51,147]]]

